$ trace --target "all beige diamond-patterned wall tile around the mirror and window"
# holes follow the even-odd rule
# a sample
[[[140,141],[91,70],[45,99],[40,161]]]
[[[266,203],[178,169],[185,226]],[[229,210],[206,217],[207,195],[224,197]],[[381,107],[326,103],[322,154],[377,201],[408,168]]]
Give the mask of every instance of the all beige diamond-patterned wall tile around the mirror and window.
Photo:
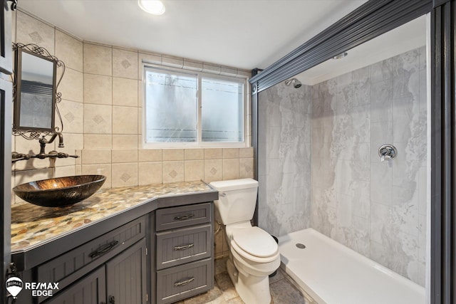
[[[14,14],[13,40],[43,46],[66,64],[58,87],[64,148],[46,152],[78,154],[78,159],[29,159],[11,167],[11,184],[74,174],[103,174],[103,187],[128,187],[202,179],[253,177],[253,148],[142,149],[142,62],[246,78],[246,70],[81,41],[24,11]],[[248,92],[247,95],[250,95]],[[251,114],[247,105],[247,142]],[[37,140],[12,138],[12,150],[38,154]],[[11,195],[13,204],[19,201]],[[217,225],[216,225],[217,226]],[[228,254],[224,232],[215,254]]]

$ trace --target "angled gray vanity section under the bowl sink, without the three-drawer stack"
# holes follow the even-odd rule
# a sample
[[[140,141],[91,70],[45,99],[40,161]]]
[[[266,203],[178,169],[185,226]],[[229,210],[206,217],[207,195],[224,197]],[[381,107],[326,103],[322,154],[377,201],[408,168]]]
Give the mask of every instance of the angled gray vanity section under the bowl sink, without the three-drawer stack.
[[[58,282],[58,290],[39,298],[25,290],[18,303],[148,303],[148,227],[141,216],[32,268],[26,281]]]

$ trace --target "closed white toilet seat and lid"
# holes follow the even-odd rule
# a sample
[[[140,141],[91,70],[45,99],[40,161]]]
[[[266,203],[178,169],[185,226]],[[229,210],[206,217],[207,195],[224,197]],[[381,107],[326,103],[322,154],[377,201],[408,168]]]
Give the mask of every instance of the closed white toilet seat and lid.
[[[268,263],[279,256],[276,241],[257,226],[236,229],[230,243],[239,255],[257,263]]]

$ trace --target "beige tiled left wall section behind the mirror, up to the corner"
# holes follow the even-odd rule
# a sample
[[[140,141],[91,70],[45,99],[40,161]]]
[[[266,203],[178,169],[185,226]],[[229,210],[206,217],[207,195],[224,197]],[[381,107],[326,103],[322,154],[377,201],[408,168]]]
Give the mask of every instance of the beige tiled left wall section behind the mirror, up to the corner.
[[[58,150],[75,154],[76,150],[83,149],[83,42],[23,11],[16,11],[13,22],[13,41],[42,46],[66,65],[58,87],[62,94],[58,109],[63,120],[65,147],[58,148],[56,143],[52,143],[46,145],[46,152]],[[23,137],[12,137],[11,146],[13,151],[21,153],[38,154],[40,150],[38,140],[30,141]],[[74,175],[75,168],[74,158],[19,161],[11,166],[11,184],[15,186],[31,180]],[[11,199],[13,203],[16,201],[14,194]]]

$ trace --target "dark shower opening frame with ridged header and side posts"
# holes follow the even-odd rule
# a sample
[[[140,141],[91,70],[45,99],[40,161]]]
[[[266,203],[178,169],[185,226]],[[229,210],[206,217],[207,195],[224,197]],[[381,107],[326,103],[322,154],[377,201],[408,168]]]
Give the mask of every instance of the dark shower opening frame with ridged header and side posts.
[[[432,304],[456,300],[456,0],[370,0],[268,68],[252,71],[252,146],[258,179],[259,92],[430,13],[430,286]],[[258,201],[254,216],[258,224]]]

